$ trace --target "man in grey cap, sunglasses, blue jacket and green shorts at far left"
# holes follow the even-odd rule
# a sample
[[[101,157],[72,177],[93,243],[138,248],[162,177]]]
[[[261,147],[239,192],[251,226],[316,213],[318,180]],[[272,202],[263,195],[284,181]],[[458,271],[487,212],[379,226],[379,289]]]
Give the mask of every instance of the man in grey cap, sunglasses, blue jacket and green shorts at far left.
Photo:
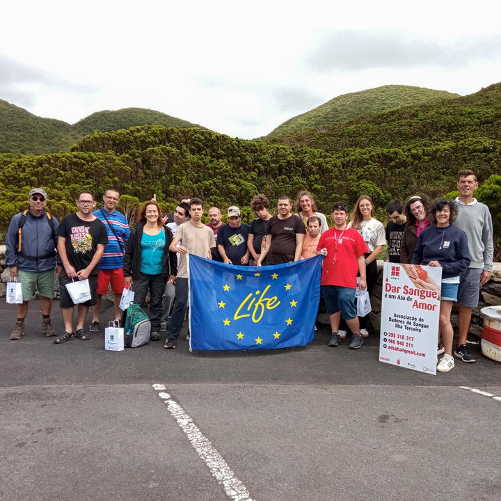
[[[10,276],[22,284],[23,302],[17,305],[17,321],[11,340],[24,335],[24,319],[29,300],[35,292],[40,295],[42,334],[56,335],[50,313],[54,298],[54,269],[56,269],[56,228],[58,221],[45,210],[47,193],[41,188],[29,192],[29,209],[13,216],[6,236],[6,261]],[[57,267],[58,274],[61,266]]]

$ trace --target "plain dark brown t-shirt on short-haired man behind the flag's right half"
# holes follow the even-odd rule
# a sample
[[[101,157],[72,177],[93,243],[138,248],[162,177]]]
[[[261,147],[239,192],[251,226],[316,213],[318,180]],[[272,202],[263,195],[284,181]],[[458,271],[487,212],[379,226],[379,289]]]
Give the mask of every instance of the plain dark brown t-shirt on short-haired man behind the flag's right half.
[[[270,264],[294,261],[296,233],[306,233],[303,220],[296,214],[292,214],[287,219],[273,216],[268,221],[267,234],[271,234],[271,247],[267,257]]]

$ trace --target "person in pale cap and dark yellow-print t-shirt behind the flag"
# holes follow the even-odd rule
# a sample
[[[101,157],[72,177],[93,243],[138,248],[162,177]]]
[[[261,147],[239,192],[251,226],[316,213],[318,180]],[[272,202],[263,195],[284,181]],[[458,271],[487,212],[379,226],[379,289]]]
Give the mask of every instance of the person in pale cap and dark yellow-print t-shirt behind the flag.
[[[240,209],[232,205],[228,209],[228,222],[218,232],[218,251],[226,264],[248,264],[247,239],[249,226],[241,223]]]

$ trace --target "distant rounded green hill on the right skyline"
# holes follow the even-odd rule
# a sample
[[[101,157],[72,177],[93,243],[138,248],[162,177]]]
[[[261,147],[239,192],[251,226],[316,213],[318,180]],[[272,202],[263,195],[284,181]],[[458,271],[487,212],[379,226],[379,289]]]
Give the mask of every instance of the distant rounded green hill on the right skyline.
[[[283,136],[305,129],[347,122],[370,113],[379,113],[402,106],[436,103],[452,97],[459,97],[459,95],[448,93],[445,90],[399,85],[388,85],[344,94],[334,97],[334,99],[306,113],[289,118],[282,125],[273,129],[266,136],[266,139],[278,138],[280,140]]]

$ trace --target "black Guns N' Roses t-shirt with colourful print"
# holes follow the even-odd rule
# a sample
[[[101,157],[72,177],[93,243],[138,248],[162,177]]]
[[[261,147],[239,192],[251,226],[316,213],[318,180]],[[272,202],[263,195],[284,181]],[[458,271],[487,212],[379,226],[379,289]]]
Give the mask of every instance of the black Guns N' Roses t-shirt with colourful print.
[[[106,226],[98,218],[94,221],[83,221],[77,214],[64,216],[56,233],[65,239],[68,261],[76,271],[88,267],[97,250],[97,244],[108,243]],[[99,267],[90,272],[95,275]]]

